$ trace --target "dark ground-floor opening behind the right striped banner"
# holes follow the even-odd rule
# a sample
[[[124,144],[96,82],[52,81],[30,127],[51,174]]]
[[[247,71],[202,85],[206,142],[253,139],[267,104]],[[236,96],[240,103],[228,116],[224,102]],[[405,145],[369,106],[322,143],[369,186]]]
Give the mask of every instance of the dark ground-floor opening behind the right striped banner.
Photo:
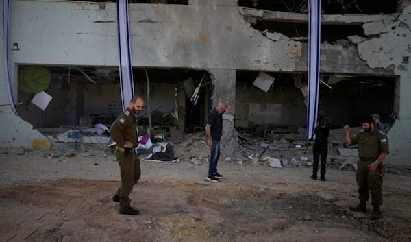
[[[299,126],[306,127],[305,73],[237,71],[236,75],[235,126],[238,130],[253,133],[277,128],[296,131]],[[267,83],[275,78],[267,91],[258,87],[261,78]],[[347,123],[358,127],[364,115],[373,113],[379,114],[387,127],[393,123],[395,77],[323,73],[320,79],[328,86],[319,85],[319,110],[331,119],[332,128],[342,128]]]

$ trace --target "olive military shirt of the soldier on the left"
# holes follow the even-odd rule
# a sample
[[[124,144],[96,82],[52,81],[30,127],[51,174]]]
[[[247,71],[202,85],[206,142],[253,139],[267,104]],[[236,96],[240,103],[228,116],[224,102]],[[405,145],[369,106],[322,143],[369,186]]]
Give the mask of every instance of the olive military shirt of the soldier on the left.
[[[133,143],[133,147],[138,146],[137,141],[137,122],[134,112],[127,108],[121,112],[119,117],[110,126],[110,135],[116,141],[118,147],[124,147],[125,142]]]

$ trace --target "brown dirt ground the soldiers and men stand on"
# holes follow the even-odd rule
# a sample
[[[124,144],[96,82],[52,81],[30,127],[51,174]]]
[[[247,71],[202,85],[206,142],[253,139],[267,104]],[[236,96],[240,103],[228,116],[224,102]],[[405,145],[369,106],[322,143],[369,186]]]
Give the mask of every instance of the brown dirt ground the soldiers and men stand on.
[[[220,162],[142,162],[132,192],[140,215],[119,215],[112,195],[119,168],[111,152],[0,154],[0,241],[411,241],[411,178],[384,178],[383,219],[347,210],[356,204],[353,171],[272,168]],[[338,197],[325,202],[316,193]],[[371,204],[369,213],[371,214]]]

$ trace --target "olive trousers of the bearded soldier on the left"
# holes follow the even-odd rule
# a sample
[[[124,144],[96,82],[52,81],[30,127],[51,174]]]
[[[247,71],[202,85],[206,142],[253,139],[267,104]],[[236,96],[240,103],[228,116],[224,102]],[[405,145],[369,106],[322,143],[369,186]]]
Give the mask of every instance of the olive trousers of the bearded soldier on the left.
[[[120,165],[121,176],[121,186],[117,190],[116,195],[120,198],[120,210],[125,210],[130,208],[131,200],[129,195],[133,191],[134,184],[138,182],[141,176],[140,159],[134,149],[127,157],[124,157],[124,152],[118,149],[116,149],[114,154]]]

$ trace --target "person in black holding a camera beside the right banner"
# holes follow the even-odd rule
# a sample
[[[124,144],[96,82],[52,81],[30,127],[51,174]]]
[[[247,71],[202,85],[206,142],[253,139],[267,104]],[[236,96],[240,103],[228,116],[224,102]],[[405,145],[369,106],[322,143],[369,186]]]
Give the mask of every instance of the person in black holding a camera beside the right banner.
[[[329,119],[321,117],[314,129],[314,165],[312,167],[312,180],[316,180],[317,172],[319,170],[319,159],[321,156],[321,181],[325,182],[325,169],[327,167],[327,153],[328,153],[328,135],[329,135]]]

